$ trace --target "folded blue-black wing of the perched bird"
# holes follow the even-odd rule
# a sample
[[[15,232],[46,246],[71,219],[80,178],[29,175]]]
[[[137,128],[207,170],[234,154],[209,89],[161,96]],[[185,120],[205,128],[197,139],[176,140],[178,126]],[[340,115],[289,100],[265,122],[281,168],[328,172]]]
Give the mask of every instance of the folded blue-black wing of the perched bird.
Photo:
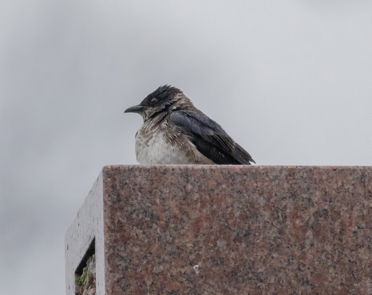
[[[177,110],[171,113],[169,120],[190,138],[200,153],[216,164],[256,163],[220,125],[200,111]]]

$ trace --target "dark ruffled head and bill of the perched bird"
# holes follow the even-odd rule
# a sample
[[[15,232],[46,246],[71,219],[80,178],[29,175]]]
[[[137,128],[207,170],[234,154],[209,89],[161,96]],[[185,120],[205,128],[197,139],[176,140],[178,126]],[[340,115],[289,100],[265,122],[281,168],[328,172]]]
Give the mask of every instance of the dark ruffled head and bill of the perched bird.
[[[139,105],[126,109],[124,113],[139,113],[145,122],[165,112],[192,107],[192,102],[180,89],[164,85],[148,94]]]

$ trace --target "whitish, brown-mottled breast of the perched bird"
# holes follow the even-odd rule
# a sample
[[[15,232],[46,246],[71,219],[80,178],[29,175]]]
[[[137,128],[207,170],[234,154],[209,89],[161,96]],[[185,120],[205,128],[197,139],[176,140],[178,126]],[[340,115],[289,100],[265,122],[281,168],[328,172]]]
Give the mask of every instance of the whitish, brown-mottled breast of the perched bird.
[[[167,141],[163,132],[142,134],[136,136],[136,155],[140,164],[193,164],[185,150]]]

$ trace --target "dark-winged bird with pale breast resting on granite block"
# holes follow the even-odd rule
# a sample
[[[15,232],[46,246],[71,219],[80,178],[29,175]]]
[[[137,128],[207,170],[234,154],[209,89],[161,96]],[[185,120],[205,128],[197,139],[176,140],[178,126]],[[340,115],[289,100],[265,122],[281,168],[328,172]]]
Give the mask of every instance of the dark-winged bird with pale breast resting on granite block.
[[[135,152],[140,164],[256,163],[177,87],[160,86],[124,113],[138,113],[143,119],[135,135]]]

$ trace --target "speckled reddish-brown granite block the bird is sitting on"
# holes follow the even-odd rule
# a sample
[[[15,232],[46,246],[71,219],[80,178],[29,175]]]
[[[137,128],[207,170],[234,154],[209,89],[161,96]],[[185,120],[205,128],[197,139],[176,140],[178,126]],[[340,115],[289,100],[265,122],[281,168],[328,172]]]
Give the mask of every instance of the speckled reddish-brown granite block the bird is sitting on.
[[[84,210],[103,220],[91,231],[97,294],[372,294],[372,167],[106,166],[100,177],[103,212]],[[74,219],[67,280],[84,233]]]

